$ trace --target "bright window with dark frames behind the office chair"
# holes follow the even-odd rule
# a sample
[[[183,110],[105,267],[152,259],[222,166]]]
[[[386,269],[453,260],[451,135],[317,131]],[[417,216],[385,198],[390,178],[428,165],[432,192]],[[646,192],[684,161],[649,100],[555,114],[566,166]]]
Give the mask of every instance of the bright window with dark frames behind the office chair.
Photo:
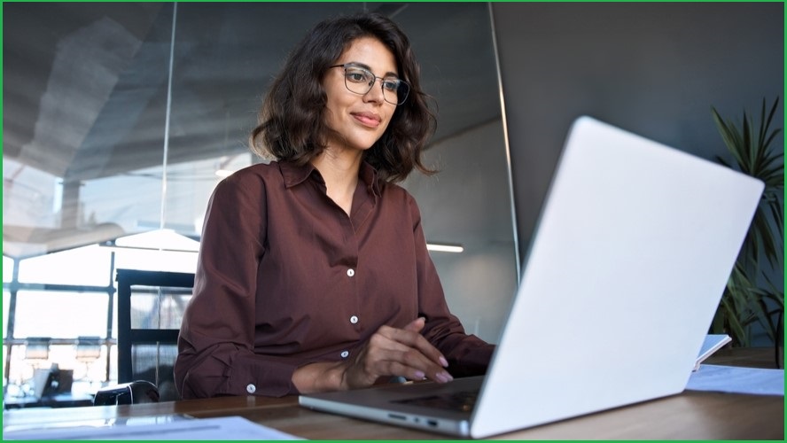
[[[152,249],[152,245],[172,250]],[[3,364],[8,375],[4,378],[7,394],[32,395],[35,369],[53,364],[73,371],[74,392],[95,392],[100,385],[117,380],[115,269],[194,272],[198,245],[174,231],[155,230],[121,237],[111,245],[90,245],[19,260],[18,280],[8,272],[14,260],[4,257]],[[182,312],[183,300],[164,301],[167,307]],[[168,327],[177,328],[179,324]]]

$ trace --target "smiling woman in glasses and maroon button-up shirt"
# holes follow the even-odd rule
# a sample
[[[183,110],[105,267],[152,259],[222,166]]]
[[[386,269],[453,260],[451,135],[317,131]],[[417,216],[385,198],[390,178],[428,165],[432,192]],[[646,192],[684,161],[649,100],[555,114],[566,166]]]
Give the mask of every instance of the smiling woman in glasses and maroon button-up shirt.
[[[376,14],[329,19],[273,83],[252,148],[275,159],[208,204],[175,384],[184,399],[447,383],[493,346],[451,315],[415,200],[432,113],[409,41]]]

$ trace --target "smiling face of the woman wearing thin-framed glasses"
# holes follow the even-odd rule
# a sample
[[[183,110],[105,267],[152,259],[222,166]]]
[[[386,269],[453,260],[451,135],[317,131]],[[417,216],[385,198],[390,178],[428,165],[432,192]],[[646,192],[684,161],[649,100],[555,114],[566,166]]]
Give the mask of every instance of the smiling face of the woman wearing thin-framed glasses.
[[[394,53],[372,37],[350,43],[335,65],[347,63],[362,66],[376,77],[398,78]],[[336,131],[328,136],[328,149],[369,149],[386,131],[396,110],[396,105],[384,99],[380,80],[375,79],[369,92],[360,95],[345,86],[345,69],[333,67],[323,78],[323,88],[328,97],[324,119]]]

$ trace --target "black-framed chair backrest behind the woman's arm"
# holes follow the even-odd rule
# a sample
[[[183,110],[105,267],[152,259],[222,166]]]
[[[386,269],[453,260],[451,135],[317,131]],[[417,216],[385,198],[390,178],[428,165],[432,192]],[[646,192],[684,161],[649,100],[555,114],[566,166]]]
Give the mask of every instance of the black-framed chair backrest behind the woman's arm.
[[[146,380],[177,400],[173,365],[194,275],[118,269],[118,383]]]

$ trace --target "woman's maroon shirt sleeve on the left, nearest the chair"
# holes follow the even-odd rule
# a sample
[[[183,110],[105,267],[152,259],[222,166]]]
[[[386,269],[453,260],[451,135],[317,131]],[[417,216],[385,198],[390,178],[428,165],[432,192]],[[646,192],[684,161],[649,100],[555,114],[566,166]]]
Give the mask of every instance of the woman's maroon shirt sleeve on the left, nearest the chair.
[[[294,390],[299,359],[254,353],[257,268],[267,242],[265,194],[260,177],[232,175],[209,201],[175,365],[183,398]]]

